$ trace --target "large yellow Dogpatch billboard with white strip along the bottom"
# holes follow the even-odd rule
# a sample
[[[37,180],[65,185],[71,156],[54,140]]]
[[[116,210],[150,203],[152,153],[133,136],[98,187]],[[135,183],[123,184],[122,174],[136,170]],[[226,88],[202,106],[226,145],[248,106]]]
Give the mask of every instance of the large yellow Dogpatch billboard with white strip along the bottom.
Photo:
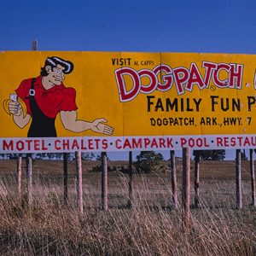
[[[0,153],[256,147],[256,55],[0,53]]]

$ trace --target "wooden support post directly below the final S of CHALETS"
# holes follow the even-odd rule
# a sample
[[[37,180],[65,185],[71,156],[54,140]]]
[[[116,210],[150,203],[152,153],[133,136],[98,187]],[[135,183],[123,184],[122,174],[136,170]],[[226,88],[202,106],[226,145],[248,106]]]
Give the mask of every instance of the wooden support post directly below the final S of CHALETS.
[[[108,211],[108,161],[106,152],[102,152],[102,209]]]

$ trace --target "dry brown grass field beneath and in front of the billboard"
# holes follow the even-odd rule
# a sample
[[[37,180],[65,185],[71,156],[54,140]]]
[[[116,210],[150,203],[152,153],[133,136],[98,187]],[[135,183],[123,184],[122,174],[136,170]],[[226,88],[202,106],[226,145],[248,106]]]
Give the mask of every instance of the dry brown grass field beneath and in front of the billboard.
[[[127,167],[125,161],[109,166]],[[128,175],[108,172],[108,211],[101,209],[99,162],[83,161],[84,214],[76,209],[75,163],[68,162],[68,205],[63,204],[62,162],[35,160],[33,201],[17,193],[15,160],[0,161],[0,255],[256,255],[256,210],[250,206],[249,165],[242,162],[242,204],[236,210],[234,161],[202,161],[200,207],[193,207],[191,163],[190,230],[172,208],[169,163],[158,172],[133,176],[133,207],[127,207]],[[181,162],[177,160],[178,201]]]

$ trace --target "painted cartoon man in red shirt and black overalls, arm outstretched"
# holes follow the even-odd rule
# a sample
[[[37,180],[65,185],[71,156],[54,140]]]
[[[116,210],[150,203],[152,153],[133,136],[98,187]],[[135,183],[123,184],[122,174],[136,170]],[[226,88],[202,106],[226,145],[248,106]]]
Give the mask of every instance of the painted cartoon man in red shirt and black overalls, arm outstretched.
[[[15,90],[21,101],[10,100],[8,111],[20,128],[32,119],[27,137],[57,137],[55,117],[58,113],[64,128],[69,131],[91,130],[106,135],[113,133],[112,127],[103,124],[107,119],[95,119],[92,122],[77,119],[76,91],[62,84],[65,74],[72,72],[71,61],[52,56],[46,59],[38,78],[23,80]]]

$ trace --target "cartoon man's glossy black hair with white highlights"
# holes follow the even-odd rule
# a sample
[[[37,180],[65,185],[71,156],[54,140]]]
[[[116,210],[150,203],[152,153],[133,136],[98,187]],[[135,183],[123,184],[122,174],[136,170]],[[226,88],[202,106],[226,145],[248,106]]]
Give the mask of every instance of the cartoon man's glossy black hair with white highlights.
[[[51,69],[56,67],[57,65],[61,65],[61,67],[64,67],[63,73],[72,73],[73,72],[73,62],[71,61],[65,61],[61,59],[60,57],[52,56],[48,57],[44,62],[44,67],[41,67],[41,73],[40,75],[45,77],[48,75],[45,67],[50,66]]]

